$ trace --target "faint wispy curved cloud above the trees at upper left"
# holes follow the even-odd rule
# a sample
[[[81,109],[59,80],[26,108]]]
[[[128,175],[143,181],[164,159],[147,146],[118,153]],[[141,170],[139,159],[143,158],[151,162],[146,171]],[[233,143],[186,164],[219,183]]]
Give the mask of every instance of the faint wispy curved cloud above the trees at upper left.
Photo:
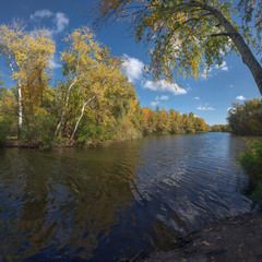
[[[67,14],[61,12],[55,14],[48,9],[38,10],[34,14],[31,14],[29,17],[35,22],[40,22],[43,19],[52,19],[53,27],[45,29],[49,36],[61,33],[69,24]]]

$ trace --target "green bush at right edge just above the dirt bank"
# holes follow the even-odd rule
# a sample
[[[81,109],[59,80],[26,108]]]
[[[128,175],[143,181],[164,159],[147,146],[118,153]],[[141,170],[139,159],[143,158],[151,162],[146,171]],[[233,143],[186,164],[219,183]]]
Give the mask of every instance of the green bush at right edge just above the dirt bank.
[[[246,153],[240,154],[238,160],[249,175],[250,196],[262,201],[262,142],[248,143]]]

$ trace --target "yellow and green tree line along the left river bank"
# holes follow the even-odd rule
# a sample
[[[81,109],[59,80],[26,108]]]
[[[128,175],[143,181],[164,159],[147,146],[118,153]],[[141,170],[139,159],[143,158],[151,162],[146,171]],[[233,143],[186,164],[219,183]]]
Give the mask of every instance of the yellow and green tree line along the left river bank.
[[[52,80],[56,45],[44,32],[26,32],[20,23],[0,26],[0,53],[13,85],[0,83],[0,143],[50,146],[151,133],[206,131],[193,114],[141,108],[122,60],[110,55],[87,27],[73,31],[60,55],[62,78]]]

